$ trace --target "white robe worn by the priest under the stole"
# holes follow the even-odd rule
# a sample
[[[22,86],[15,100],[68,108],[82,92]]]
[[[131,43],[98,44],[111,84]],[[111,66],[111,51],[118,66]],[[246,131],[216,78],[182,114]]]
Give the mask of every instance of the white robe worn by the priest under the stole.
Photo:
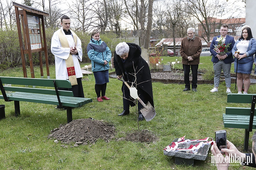
[[[62,28],[62,27],[61,27]],[[65,35],[63,29],[61,29],[63,35],[67,38],[69,42],[69,46],[73,47],[73,35]],[[72,34],[72,33],[71,33]],[[83,76],[81,67],[79,64],[79,61],[82,61],[82,46],[81,46],[81,40],[79,37],[77,37],[77,51],[78,55],[73,54],[73,61],[74,61],[74,67],[76,72],[76,77],[80,78]],[[69,76],[67,74],[67,67],[66,67],[66,59],[69,57],[70,48],[63,48],[61,47],[61,43],[59,41],[59,36],[57,34],[57,31],[53,34],[51,38],[51,53],[55,57],[55,73],[56,73],[56,79],[60,80],[66,80],[69,79]]]

